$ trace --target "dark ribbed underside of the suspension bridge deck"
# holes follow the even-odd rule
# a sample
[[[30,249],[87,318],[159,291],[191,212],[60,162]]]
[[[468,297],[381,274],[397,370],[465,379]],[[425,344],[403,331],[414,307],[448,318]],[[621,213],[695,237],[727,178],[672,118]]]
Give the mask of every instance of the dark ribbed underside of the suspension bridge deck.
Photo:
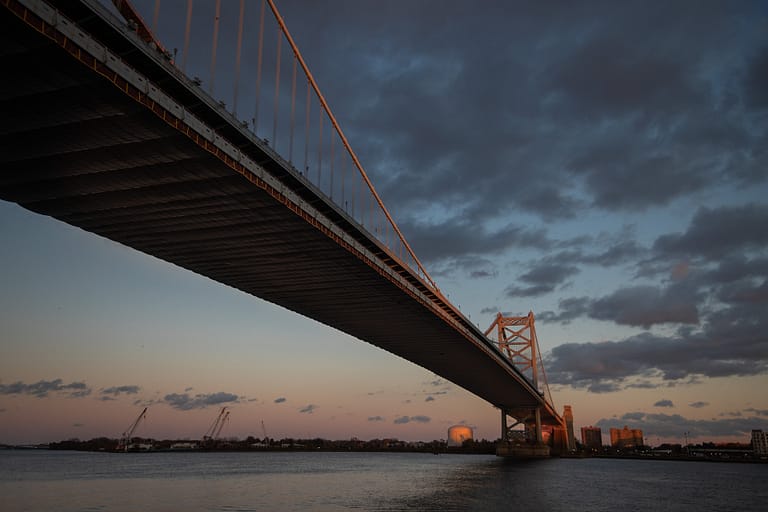
[[[494,405],[539,403],[476,341],[2,7],[0,27],[0,198],[331,325]]]

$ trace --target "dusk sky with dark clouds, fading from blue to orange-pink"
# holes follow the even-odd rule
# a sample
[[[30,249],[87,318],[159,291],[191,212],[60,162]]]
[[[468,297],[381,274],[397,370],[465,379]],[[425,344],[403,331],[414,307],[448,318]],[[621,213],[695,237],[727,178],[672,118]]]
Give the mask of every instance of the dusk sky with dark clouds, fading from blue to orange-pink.
[[[180,5],[161,4],[169,49]],[[238,3],[223,5],[214,97],[232,105]],[[768,5],[278,7],[441,290],[481,328],[534,312],[577,432],[768,429]],[[203,87],[207,37],[187,64]],[[499,436],[499,412],[438,375],[7,202],[0,326],[0,443],[118,437],[143,407],[137,434],[155,438],[200,438],[223,406],[241,438]]]

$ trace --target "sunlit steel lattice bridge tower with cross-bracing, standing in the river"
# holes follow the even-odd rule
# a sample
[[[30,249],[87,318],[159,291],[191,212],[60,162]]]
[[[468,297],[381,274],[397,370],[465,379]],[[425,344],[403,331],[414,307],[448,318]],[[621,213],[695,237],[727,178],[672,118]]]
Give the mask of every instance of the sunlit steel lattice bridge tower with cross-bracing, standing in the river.
[[[497,313],[493,323],[486,329],[485,335],[499,350],[528,378],[536,391],[552,403],[552,395],[547,385],[546,373],[539,351],[539,341],[536,337],[536,325],[533,311],[526,316],[504,316]],[[543,386],[540,386],[540,383]],[[501,407],[501,444],[497,448],[498,455],[521,457],[546,457],[549,455],[549,441],[544,439],[541,423],[541,407]],[[512,418],[514,423],[509,424]],[[515,430],[518,425],[524,425],[521,436]],[[547,432],[552,437],[553,427]]]

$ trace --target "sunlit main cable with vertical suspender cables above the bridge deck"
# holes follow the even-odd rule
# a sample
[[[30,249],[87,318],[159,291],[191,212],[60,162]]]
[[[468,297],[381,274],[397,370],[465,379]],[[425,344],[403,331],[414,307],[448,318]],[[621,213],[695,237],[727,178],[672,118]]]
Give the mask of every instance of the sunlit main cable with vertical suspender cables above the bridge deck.
[[[376,192],[274,0],[134,3],[181,72],[441,295]]]

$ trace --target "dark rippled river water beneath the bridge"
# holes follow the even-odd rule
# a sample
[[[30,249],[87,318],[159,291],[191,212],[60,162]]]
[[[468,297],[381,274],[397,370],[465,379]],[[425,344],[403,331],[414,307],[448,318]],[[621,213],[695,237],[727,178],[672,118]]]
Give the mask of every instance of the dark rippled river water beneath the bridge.
[[[0,510],[764,511],[768,464],[0,450]]]

